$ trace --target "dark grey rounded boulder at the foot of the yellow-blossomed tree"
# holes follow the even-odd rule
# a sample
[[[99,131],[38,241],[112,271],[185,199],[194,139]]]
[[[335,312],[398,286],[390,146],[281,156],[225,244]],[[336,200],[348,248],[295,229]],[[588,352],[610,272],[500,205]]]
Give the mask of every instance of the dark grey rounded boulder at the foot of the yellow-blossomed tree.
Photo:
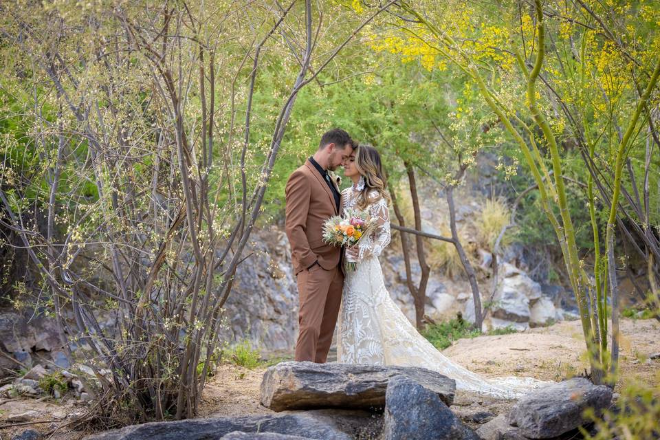
[[[550,439],[585,423],[582,413],[599,413],[612,400],[612,390],[584,377],[559,382],[522,397],[509,414],[509,422],[530,439]]]

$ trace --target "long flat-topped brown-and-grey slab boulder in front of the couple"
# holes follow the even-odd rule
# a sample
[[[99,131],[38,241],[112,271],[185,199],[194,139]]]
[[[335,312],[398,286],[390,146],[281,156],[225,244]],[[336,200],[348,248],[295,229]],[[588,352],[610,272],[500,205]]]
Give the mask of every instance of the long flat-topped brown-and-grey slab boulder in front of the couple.
[[[309,408],[382,408],[388,381],[410,377],[451,405],[456,382],[417,367],[281,362],[266,370],[261,403],[274,411]]]

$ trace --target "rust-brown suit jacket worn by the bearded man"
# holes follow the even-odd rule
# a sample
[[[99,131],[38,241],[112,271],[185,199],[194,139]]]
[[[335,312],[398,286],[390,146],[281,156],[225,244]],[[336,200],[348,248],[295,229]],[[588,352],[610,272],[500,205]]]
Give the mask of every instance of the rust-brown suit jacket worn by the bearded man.
[[[323,223],[340,211],[342,202],[340,199],[340,206],[335,206],[332,191],[309,160],[289,176],[286,198],[286,231],[296,274],[317,260],[325,270],[336,267],[341,248],[324,243],[322,230]]]

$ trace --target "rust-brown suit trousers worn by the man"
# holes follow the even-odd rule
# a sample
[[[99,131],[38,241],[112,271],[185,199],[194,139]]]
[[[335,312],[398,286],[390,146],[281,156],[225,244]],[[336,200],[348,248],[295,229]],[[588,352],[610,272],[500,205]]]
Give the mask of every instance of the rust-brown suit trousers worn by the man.
[[[340,266],[325,270],[314,265],[298,273],[298,342],[296,360],[322,364],[328,358],[339,308],[342,303],[344,274]]]

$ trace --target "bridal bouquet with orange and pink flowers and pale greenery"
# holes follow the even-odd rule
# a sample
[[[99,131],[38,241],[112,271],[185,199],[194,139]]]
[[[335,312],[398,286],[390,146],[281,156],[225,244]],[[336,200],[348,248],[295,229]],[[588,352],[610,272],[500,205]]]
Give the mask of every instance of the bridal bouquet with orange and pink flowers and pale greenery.
[[[373,222],[369,212],[349,209],[344,217],[336,215],[323,223],[323,241],[331,245],[351,247],[357,245],[372,229]],[[355,270],[355,263],[347,257],[346,270]]]

